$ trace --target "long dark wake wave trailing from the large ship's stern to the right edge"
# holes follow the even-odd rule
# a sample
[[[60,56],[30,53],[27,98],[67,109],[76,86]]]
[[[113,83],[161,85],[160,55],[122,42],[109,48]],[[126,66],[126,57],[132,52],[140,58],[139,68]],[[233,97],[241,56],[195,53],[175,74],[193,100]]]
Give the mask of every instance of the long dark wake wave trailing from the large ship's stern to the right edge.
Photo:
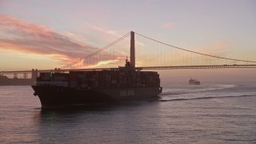
[[[174,99],[160,99],[160,102],[171,102],[171,101],[190,101],[199,99],[211,99],[211,98],[242,98],[242,97],[256,97],[253,95],[238,95],[238,96],[218,96],[218,97],[199,97],[199,98],[174,98]]]

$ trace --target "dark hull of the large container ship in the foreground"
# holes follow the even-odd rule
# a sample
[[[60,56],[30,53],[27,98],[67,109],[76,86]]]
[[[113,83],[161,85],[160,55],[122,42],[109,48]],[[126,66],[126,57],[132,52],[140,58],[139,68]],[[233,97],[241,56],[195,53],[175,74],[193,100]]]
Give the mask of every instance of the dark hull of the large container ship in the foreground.
[[[42,109],[75,105],[130,102],[158,97],[160,87],[139,87],[127,89],[74,89],[61,86],[32,86]]]

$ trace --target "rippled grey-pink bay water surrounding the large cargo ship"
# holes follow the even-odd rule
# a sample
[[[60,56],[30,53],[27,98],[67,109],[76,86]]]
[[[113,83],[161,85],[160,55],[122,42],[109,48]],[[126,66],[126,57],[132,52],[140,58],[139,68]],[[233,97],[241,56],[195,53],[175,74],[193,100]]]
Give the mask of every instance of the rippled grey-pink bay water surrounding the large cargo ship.
[[[163,87],[155,102],[41,110],[0,86],[0,143],[256,143],[256,84]]]

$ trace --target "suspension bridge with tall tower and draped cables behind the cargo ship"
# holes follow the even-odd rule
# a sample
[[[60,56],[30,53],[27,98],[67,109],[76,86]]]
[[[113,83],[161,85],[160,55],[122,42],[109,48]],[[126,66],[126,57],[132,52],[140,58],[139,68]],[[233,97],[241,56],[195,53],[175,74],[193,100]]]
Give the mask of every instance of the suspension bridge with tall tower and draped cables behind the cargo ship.
[[[23,78],[31,74],[33,78],[40,72],[118,70],[128,55],[131,67],[135,70],[256,68],[256,61],[187,50],[131,31],[86,57],[58,69],[0,71],[0,74],[14,74],[14,78],[18,78],[18,74],[23,74]]]

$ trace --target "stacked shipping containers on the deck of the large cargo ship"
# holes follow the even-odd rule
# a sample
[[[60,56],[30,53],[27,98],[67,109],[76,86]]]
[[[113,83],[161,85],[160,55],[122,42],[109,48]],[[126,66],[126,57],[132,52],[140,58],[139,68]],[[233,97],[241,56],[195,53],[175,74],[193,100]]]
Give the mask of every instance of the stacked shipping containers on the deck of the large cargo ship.
[[[70,71],[69,74],[41,73],[38,79],[41,82],[68,82],[69,87],[82,89],[160,86],[157,72],[136,70]]]

